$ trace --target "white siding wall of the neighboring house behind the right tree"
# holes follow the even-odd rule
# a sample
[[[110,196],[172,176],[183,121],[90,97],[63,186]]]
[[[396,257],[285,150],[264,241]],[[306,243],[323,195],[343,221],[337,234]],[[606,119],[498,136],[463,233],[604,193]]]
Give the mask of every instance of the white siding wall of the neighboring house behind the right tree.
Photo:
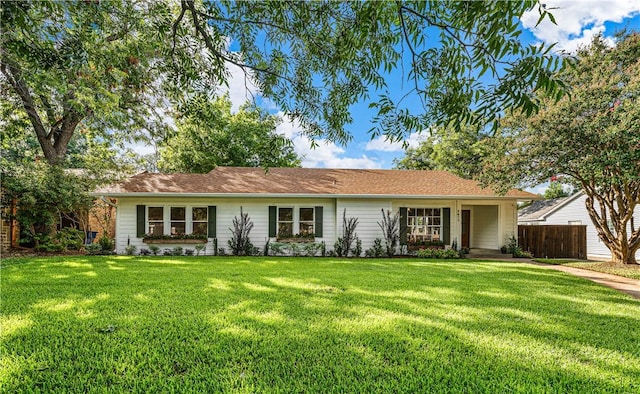
[[[585,206],[585,195],[575,198],[557,211],[547,216],[547,220],[540,224],[569,224],[569,222],[581,221],[581,224],[587,226],[587,255],[593,257],[610,258],[611,252],[598,237],[596,227],[593,225],[587,208]],[[595,203],[595,208],[599,208],[599,204]],[[640,225],[640,206],[634,211],[636,225]],[[630,230],[630,228],[629,228]],[[636,253],[636,258],[640,258],[640,251]]]

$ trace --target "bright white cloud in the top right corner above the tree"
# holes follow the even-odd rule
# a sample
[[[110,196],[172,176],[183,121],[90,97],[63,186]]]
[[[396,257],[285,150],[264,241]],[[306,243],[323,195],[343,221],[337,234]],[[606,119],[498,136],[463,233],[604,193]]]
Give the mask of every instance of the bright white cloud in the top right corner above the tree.
[[[629,0],[549,0],[544,3],[557,25],[546,18],[536,27],[540,16],[537,7],[522,16],[522,25],[540,41],[557,42],[557,48],[567,52],[589,44],[598,33],[605,34],[605,22],[620,23],[640,13],[640,2]]]

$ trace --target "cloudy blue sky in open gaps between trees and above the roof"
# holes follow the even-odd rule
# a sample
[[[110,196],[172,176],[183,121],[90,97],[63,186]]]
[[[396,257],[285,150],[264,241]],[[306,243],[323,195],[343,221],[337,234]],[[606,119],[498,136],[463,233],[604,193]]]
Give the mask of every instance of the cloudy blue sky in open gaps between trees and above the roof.
[[[559,50],[575,51],[580,45],[586,45],[591,38],[602,33],[605,37],[624,29],[640,30],[640,1],[637,0],[559,0],[544,1],[547,8],[556,8],[552,13],[557,26],[549,21],[535,27],[539,14],[537,9],[525,14],[521,23],[525,42],[551,44],[557,42]],[[613,41],[612,41],[613,42]],[[249,85],[251,93],[247,93],[247,84],[240,72],[231,70],[229,94],[234,106],[239,107],[251,94],[259,95],[255,87]],[[399,72],[399,71],[398,71]],[[393,78],[393,75],[391,75]],[[275,109],[277,112],[277,108]],[[281,116],[282,113],[279,113]],[[371,140],[367,133],[372,127],[370,120],[374,113],[368,109],[368,103],[354,106],[352,111],[354,122],[346,129],[353,140],[346,146],[338,146],[323,140],[317,141],[319,146],[310,148],[310,141],[300,133],[298,125],[283,117],[279,132],[291,138],[296,152],[304,156],[304,167],[326,168],[392,168],[393,159],[403,156],[402,143],[391,144],[384,137]],[[422,137],[417,134],[408,136],[409,145],[416,145]]]

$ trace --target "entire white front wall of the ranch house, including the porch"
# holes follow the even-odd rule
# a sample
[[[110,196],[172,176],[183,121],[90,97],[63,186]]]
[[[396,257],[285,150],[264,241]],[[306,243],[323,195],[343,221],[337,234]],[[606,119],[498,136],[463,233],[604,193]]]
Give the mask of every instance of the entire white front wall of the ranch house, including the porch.
[[[148,249],[148,245],[136,237],[136,205],[164,206],[168,211],[171,206],[186,207],[217,207],[216,234],[218,247],[225,248],[229,253],[227,241],[231,236],[229,228],[232,227],[233,218],[240,216],[240,206],[243,212],[248,213],[254,227],[251,230],[251,242],[263,249],[269,231],[270,205],[279,207],[315,207],[323,209],[323,237],[316,238],[316,242],[324,241],[327,250],[332,250],[337,238],[342,232],[342,215],[346,209],[347,218],[357,217],[358,227],[356,232],[362,241],[363,251],[371,248],[376,238],[382,238],[382,230],[378,222],[382,220],[381,210],[390,209],[397,212],[400,207],[414,208],[450,208],[451,209],[451,242],[456,241],[460,245],[460,215],[459,210],[471,208],[472,210],[472,234],[471,243],[475,248],[497,249],[501,243],[506,242],[515,227],[515,203],[495,201],[453,201],[453,200],[419,200],[419,199],[358,199],[340,198],[334,199],[304,199],[304,198],[127,198],[119,199],[118,214],[116,218],[116,250],[124,253],[129,239],[132,245],[136,245],[138,251],[141,248]],[[210,239],[207,243],[207,254],[213,254],[213,244]],[[274,241],[274,239],[272,239]],[[161,249],[183,246],[193,249],[194,245],[161,244]]]

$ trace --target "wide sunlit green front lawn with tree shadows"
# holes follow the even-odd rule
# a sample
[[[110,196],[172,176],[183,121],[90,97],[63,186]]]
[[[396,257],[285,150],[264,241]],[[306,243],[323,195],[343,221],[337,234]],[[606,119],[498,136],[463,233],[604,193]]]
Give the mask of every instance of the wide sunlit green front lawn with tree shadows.
[[[2,392],[640,392],[640,301],[532,265],[2,264]]]

